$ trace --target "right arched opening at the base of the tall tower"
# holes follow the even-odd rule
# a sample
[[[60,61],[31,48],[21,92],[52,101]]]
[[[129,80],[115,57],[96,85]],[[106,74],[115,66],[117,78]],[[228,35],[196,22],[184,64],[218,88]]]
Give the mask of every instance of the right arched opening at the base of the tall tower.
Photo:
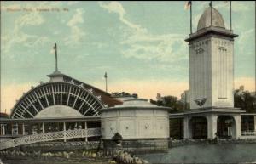
[[[217,134],[222,139],[236,137],[236,121],[233,116],[218,116]]]

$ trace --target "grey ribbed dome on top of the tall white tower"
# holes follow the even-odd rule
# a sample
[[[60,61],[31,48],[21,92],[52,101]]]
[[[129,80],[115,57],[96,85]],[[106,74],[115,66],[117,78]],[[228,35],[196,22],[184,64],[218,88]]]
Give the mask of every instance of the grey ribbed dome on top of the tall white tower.
[[[197,31],[209,26],[211,26],[211,7],[208,7],[201,15],[201,18],[198,21]],[[212,8],[212,26],[225,28],[222,15],[219,14],[218,10],[215,8]]]

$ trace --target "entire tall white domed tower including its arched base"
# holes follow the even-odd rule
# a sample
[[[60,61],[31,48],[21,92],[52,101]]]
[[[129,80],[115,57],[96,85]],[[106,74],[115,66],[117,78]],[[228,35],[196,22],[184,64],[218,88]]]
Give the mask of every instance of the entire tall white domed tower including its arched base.
[[[229,135],[240,136],[241,110],[234,108],[233,95],[235,37],[238,35],[225,28],[218,10],[210,6],[201,15],[197,31],[185,40],[189,42],[190,110],[184,114],[184,138],[193,138],[191,128],[195,123],[189,122],[198,117],[207,122],[208,139],[218,131],[224,133],[227,128],[218,127],[218,122],[226,118],[234,124],[229,127]]]

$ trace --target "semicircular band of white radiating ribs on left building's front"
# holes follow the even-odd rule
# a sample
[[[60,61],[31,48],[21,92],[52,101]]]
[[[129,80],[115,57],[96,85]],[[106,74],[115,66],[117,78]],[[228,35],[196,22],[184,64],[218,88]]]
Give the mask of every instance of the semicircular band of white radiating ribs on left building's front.
[[[33,118],[53,105],[67,105],[82,116],[99,116],[104,106],[92,91],[67,82],[48,82],[32,88],[13,108],[11,118]]]

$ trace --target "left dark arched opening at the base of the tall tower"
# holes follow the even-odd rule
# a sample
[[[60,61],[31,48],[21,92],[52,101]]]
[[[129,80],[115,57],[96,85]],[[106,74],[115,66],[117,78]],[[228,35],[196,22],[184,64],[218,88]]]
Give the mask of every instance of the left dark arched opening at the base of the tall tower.
[[[205,116],[194,116],[189,120],[192,139],[207,139],[207,118]]]

